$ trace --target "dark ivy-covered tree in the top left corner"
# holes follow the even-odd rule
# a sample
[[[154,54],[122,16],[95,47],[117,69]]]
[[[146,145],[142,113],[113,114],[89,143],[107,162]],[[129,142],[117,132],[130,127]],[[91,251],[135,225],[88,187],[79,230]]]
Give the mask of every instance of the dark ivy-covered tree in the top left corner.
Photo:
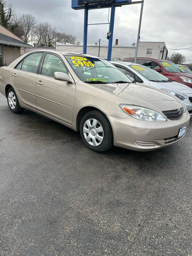
[[[0,24],[5,28],[9,28],[9,26],[12,24],[13,16],[13,5],[6,4],[4,0],[0,0]]]

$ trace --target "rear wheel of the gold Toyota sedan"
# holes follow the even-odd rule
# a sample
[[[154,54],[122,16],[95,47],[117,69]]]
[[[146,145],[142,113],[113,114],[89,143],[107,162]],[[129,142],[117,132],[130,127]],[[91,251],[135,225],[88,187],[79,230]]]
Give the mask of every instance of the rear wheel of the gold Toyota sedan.
[[[20,107],[17,94],[15,93],[13,87],[9,88],[7,92],[7,103],[11,111],[15,114],[22,113],[25,110],[25,108]]]

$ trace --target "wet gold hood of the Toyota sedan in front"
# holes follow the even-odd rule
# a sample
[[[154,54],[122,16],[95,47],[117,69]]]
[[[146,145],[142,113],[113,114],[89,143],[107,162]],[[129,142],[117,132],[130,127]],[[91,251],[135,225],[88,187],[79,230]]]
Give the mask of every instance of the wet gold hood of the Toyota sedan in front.
[[[119,104],[126,101],[125,104],[142,106],[158,112],[182,107],[176,97],[147,84],[91,84],[91,86],[122,98]]]

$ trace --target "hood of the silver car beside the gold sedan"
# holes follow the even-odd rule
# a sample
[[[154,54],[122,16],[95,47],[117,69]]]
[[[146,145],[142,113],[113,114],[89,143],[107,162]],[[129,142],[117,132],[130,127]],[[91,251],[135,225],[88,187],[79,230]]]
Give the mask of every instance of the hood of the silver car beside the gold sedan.
[[[188,95],[192,94],[192,89],[189,88],[187,85],[180,84],[177,82],[152,82],[149,81],[149,84],[151,86],[155,86],[156,88],[159,89],[166,89],[166,90],[171,90],[173,92],[180,92],[182,94]]]

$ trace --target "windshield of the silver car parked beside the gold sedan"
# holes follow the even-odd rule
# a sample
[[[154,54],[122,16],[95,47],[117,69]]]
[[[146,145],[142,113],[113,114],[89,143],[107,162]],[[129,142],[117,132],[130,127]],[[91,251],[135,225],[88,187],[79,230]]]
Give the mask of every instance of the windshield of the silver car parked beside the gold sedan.
[[[157,71],[146,66],[139,66],[134,64],[130,65],[129,68],[131,68],[133,71],[137,71],[141,76],[144,76],[148,80],[153,80],[156,82],[169,81],[166,77],[162,76]]]

